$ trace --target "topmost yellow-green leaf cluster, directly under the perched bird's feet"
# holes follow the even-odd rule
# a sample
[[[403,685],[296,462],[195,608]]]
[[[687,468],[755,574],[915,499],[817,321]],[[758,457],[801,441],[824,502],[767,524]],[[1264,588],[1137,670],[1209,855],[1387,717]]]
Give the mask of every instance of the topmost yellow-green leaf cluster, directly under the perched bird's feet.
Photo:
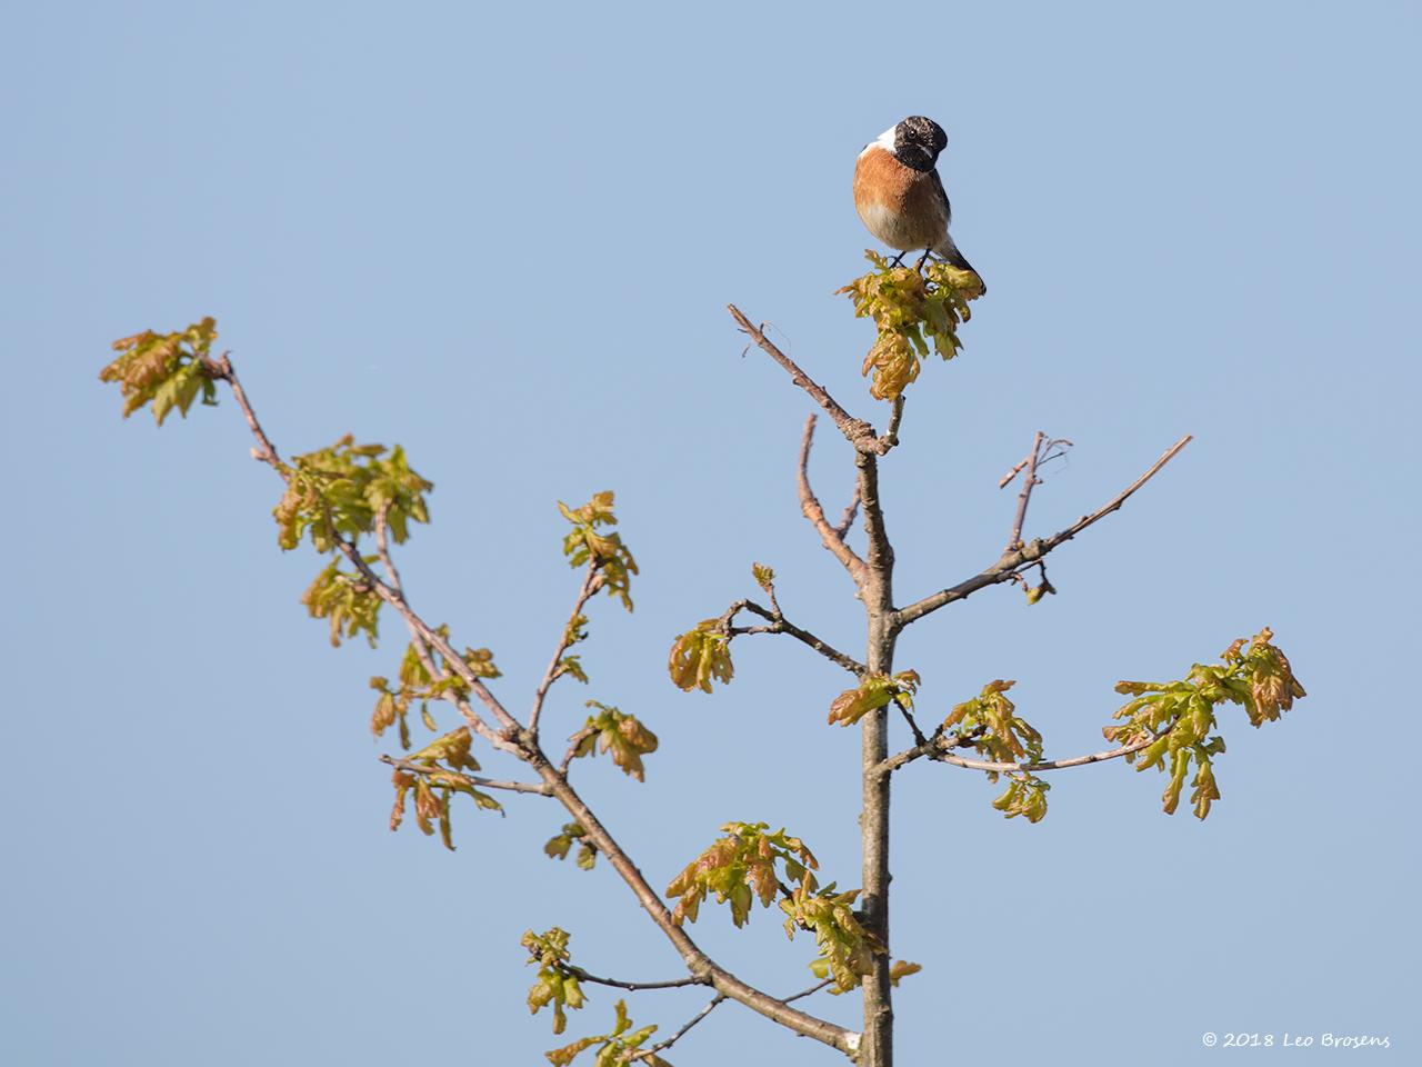
[[[983,280],[950,263],[930,263],[923,273],[890,266],[876,252],[865,252],[875,269],[836,290],[848,293],[855,317],[875,320],[879,336],[860,373],[875,373],[869,387],[877,400],[897,400],[919,377],[929,346],[944,360],[958,354],[958,326],[971,319],[968,302],[983,294]]]

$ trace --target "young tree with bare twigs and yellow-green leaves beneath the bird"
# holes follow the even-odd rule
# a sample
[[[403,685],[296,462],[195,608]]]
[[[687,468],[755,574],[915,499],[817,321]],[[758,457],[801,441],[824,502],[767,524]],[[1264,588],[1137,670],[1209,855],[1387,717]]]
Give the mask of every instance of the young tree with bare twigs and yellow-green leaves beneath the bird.
[[[582,573],[582,580],[547,669],[533,690],[530,710],[526,718],[519,718],[491,684],[501,676],[493,653],[489,649],[459,650],[451,629],[424,619],[405,595],[392,546],[408,539],[412,524],[428,522],[425,494],[432,484],[410,467],[398,445],[390,450],[358,445],[347,435],[327,448],[283,460],[242,388],[232,360],[226,353],[215,356],[212,351],[218,337],[213,319],[176,333],[145,331],[121,339],[114,344],[117,359],[101,373],[104,381],[119,386],[125,415],[149,407],[159,425],[173,410],[186,415],[199,397],[203,404],[216,404],[218,388],[226,384],[255,440],[253,458],[267,464],[284,485],[273,512],[280,546],[294,549],[307,541],[328,561],[301,598],[310,615],[327,622],[333,644],[357,636],[375,644],[385,607],[405,623],[410,644],[395,677],[370,681],[377,694],[371,730],[377,736],[394,730],[401,750],[381,757],[392,770],[391,829],[402,824],[412,802],[419,829],[428,835],[438,831],[444,844],[454,848],[451,812],[458,797],[468,798],[458,801],[461,805],[488,811],[501,809],[496,792],[552,798],[570,821],[547,841],[545,852],[565,859],[576,845],[576,864],[584,869],[594,868],[602,856],[687,967],[685,976],[664,982],[600,977],[572,962],[569,932],[556,926],[542,933],[529,930],[522,945],[529,952],[528,962],[538,966],[528,996],[530,1010],[552,1007],[553,1033],[562,1034],[567,1009],[583,1007],[586,984],[624,990],[700,984],[712,992],[700,1013],[656,1040],[657,1027],[637,1027],[624,1002],[617,1002],[607,1033],[582,1037],[546,1053],[553,1064],[573,1063],[582,1051],[594,1047],[597,1067],[665,1064],[661,1053],[720,1004],[734,1000],[856,1063],[890,1067],[892,989],[920,970],[919,963],[894,959],[890,953],[889,805],[896,771],[916,761],[930,761],[980,771],[991,781],[1005,778],[994,808],[1007,818],[1025,817],[1037,822],[1047,814],[1049,784],[1044,774],[1119,757],[1133,763],[1138,771],[1156,768],[1167,775],[1163,804],[1169,814],[1176,811],[1189,778],[1190,802],[1203,819],[1220,795],[1214,778],[1214,758],[1224,753],[1224,741],[1217,733],[1219,710],[1239,704],[1250,724],[1260,727],[1277,720],[1304,696],[1288,659],[1273,644],[1273,635],[1266,627],[1251,639],[1234,640],[1219,663],[1193,664],[1180,680],[1118,683],[1116,691],[1128,701],[1102,730],[1113,745],[1105,751],[1048,760],[1042,736],[1008,697],[1012,681],[1001,679],[988,680],[977,696],[953,707],[930,730],[919,724],[914,694],[920,677],[916,670],[896,670],[894,664],[894,646],[904,627],[994,585],[1020,585],[1028,603],[1055,593],[1047,578],[1048,553],[1118,511],[1190,438],[1176,441],[1103,506],[1057,534],[1024,541],[1038,472],[1071,447],[1065,440],[1038,432],[1027,457],[1003,479],[1005,487],[1020,478],[1021,488],[1001,555],[957,585],[897,605],[894,552],[879,497],[880,462],[899,447],[906,390],[917,380],[930,349],[944,360],[951,360],[961,349],[958,329],[968,320],[970,302],[981,293],[981,283],[971,272],[944,263],[920,260],[917,267],[907,267],[873,253],[870,260],[869,273],[840,292],[850,297],[856,314],[873,319],[877,327],[863,373],[872,374],[870,394],[890,405],[883,432],[850,415],[747,316],[734,306],[729,309],[739,329],[785,368],[853,450],[856,488],[840,519],[832,522],[808,477],[816,425],[816,415],[811,414],[799,452],[798,489],[805,518],[822,545],[843,565],[863,603],[867,632],[863,659],[830,647],[812,630],[791,622],[775,593],[775,572],[757,563],[752,578],[765,602],[734,600],[720,615],[675,637],[668,660],[677,687],[711,693],[715,683],[732,680],[735,639],[786,635],[850,676],[852,684],[829,703],[828,721],[839,727],[857,726],[862,737],[863,871],[856,889],[840,889],[839,879],[823,883],[813,852],[784,828],[771,831],[764,822],[728,822],[722,827],[724,837],[690,858],[665,888],[665,898],[675,901],[675,906],[668,908],[572,784],[574,761],[600,753],[609,754],[624,774],[641,781],[644,757],[657,751],[656,734],[617,707],[587,701],[592,714],[573,733],[562,757],[555,763],[550,750],[545,748],[542,717],[552,687],[565,677],[587,681],[582,659],[573,650],[587,636],[592,603],[603,593],[627,610],[633,606],[631,582],[637,563],[620,534],[610,529],[617,522],[611,492],[594,494],[576,508],[559,504],[569,522],[563,553]],[[850,543],[857,515],[862,515],[866,539],[862,553]],[[748,619],[757,622],[742,622]],[[431,710],[441,703],[455,708],[459,726],[442,731]],[[422,745],[417,745],[411,734],[410,720],[417,706],[422,727],[435,734]],[[892,716],[902,717],[913,737],[910,747],[894,754],[889,750]],[[522,764],[525,777],[485,775],[475,755],[476,743],[505,761]],[[968,750],[975,758],[961,754]],[[799,932],[813,936],[818,956],[811,967],[818,982],[791,996],[772,996],[712,960],[687,932],[701,905],[712,896],[717,903],[729,906],[737,926],[747,923],[757,903],[762,908],[778,905],[792,939]],[[842,994],[856,989],[863,999],[862,1031],[830,1023],[799,1006],[820,990]]]

